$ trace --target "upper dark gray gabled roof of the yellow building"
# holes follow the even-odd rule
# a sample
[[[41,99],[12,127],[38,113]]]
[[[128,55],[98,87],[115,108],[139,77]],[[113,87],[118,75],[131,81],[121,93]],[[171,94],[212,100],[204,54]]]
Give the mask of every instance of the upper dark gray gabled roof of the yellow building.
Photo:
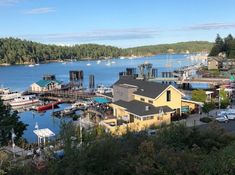
[[[149,98],[156,98],[160,95],[169,85],[137,80],[130,76],[121,77],[114,85],[129,84],[138,87],[138,90],[134,92],[136,95],[142,95]]]

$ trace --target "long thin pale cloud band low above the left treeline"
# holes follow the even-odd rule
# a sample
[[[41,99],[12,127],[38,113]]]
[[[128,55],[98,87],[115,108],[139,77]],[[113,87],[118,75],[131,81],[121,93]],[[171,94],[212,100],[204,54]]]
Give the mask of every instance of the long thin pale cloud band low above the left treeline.
[[[157,29],[133,28],[119,30],[97,30],[81,33],[60,33],[60,34],[42,34],[42,35],[24,35],[18,36],[29,40],[35,40],[47,43],[79,43],[95,41],[120,41],[134,39],[151,39],[159,34]]]

